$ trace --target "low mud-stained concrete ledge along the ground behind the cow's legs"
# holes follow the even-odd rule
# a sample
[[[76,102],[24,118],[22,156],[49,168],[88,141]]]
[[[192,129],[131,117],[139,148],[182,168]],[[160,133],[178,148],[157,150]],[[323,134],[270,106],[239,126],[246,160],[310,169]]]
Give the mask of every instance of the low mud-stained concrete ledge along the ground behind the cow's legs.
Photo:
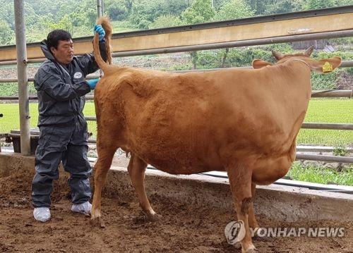
[[[16,171],[34,173],[34,157],[0,154],[0,177]],[[59,185],[67,174],[60,171]],[[228,180],[208,175],[169,175],[148,171],[146,191],[150,199],[165,197],[172,202],[233,209]],[[105,195],[136,199],[126,168],[112,167],[107,176]],[[136,200],[137,201],[137,200]],[[153,203],[151,203],[153,205]],[[280,185],[258,186],[254,199],[256,214],[276,221],[352,221],[353,195]]]

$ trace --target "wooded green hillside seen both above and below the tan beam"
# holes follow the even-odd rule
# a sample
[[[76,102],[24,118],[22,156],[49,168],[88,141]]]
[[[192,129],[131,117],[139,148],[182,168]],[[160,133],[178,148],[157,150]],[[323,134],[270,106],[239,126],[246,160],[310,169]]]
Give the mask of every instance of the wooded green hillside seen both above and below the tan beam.
[[[0,1],[0,46],[14,44],[13,1]],[[103,0],[103,2],[104,15],[112,20],[114,32],[353,4],[353,0]],[[96,18],[96,0],[25,0],[27,42],[39,42],[50,30],[58,28],[68,30],[73,37],[93,35],[92,27]],[[335,55],[341,56],[343,60],[353,59],[353,37],[325,40],[321,44],[333,47],[333,53],[325,53],[319,49],[314,51],[313,57]],[[293,46],[291,43],[283,43],[261,47],[206,50],[181,54],[167,61],[159,58],[160,56],[142,56],[131,58],[126,65],[162,70],[249,66],[254,58],[273,61],[272,49],[291,53],[294,51]],[[115,61],[124,64],[121,61],[125,60],[116,58]],[[32,73],[35,73],[35,69]],[[16,78],[14,75],[16,70],[0,68],[0,74],[7,78]],[[313,73],[313,89],[352,89],[352,74],[353,68],[340,68],[328,75]],[[1,85],[1,94],[13,94],[17,91],[16,84],[11,85],[11,88],[8,86],[8,89],[5,87],[6,85]]]

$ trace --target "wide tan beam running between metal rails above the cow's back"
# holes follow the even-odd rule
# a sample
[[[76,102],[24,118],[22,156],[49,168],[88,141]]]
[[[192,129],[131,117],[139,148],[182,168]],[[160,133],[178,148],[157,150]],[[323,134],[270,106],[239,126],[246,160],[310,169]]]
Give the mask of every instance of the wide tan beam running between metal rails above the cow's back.
[[[100,5],[98,3],[98,5]],[[138,30],[119,32],[112,35],[114,50],[126,56],[126,53],[136,51],[135,55],[155,54],[172,51],[201,50],[198,46],[215,48],[241,46],[241,44],[222,44],[224,42],[240,43],[252,39],[268,39],[267,41],[252,40],[252,44],[271,44],[286,42],[278,38],[294,40],[325,39],[328,37],[352,36],[345,32],[352,32],[353,5],[325,8],[318,10],[280,13],[268,16],[254,16],[237,20],[225,20],[196,25],[182,25],[179,27],[165,27],[153,30]],[[260,24],[260,25],[259,25]],[[303,27],[308,27],[302,29]],[[243,30],[246,32],[243,32]],[[217,32],[217,36],[215,35]],[[338,33],[335,33],[338,32]],[[304,35],[304,37],[301,37]],[[291,37],[293,36],[293,37]],[[316,37],[321,36],[321,37]],[[143,39],[140,39],[143,37]],[[157,38],[157,39],[156,39]],[[74,38],[76,54],[85,54],[92,50],[92,37]],[[157,42],[157,43],[156,43]],[[40,43],[28,44],[29,58],[42,58]],[[212,46],[213,45],[213,46]],[[190,48],[187,48],[192,46]],[[196,46],[196,47],[194,47]],[[178,48],[179,47],[179,48]],[[164,49],[167,49],[165,51]],[[0,47],[2,61],[15,60],[11,46]],[[11,53],[12,52],[12,53]],[[129,53],[128,53],[129,54]]]

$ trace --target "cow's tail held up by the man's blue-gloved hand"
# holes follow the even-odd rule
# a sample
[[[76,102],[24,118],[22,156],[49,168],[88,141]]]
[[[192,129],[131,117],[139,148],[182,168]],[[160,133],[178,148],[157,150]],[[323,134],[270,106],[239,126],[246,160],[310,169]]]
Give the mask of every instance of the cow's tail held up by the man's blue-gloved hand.
[[[100,69],[105,72],[109,66],[109,64],[112,64],[112,54],[111,54],[111,39],[112,39],[112,24],[109,21],[109,18],[102,17],[98,18],[97,20],[97,25],[102,25],[104,31],[105,31],[105,41],[107,44],[107,62],[103,61],[102,56],[100,55],[100,46],[99,46],[99,41],[98,41],[98,34],[97,32],[95,33],[95,37],[93,39],[93,53],[95,54],[95,61],[97,62],[98,66],[100,66]]]

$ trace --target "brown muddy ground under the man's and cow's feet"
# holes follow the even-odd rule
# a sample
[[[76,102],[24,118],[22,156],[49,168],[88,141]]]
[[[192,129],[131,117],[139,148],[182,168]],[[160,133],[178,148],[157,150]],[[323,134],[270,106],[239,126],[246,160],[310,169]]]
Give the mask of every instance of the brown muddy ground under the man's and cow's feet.
[[[32,218],[28,173],[0,178],[0,252],[240,252],[228,245],[224,229],[232,210],[192,206],[150,196],[162,219],[155,223],[140,213],[136,196],[104,192],[106,228],[70,211],[67,185],[55,184],[52,219]],[[115,197],[113,197],[115,196]],[[116,197],[117,196],[117,197]],[[287,223],[258,217],[262,227],[344,227],[344,237],[258,237],[259,252],[353,252],[353,221]]]

